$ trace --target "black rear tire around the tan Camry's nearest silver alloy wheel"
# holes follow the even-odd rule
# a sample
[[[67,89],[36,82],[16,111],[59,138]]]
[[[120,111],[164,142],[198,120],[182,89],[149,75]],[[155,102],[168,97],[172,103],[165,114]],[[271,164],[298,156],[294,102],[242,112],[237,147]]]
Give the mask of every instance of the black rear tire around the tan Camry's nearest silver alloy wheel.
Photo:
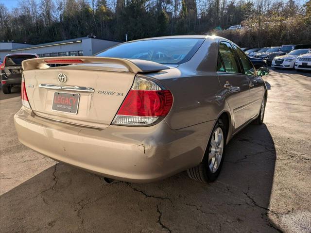
[[[221,130],[219,131],[219,129],[221,129]],[[220,140],[220,144],[222,144],[222,145],[218,145],[219,146],[218,150],[214,149],[215,148],[214,138],[215,138],[215,135],[217,135],[217,134],[215,134],[216,131],[218,132],[218,135],[222,134],[222,143]],[[225,124],[223,123],[223,121],[221,119],[218,119],[216,122],[216,125],[212,131],[212,134],[208,140],[207,150],[205,151],[203,161],[198,166],[191,167],[190,169],[187,170],[188,176],[191,179],[198,181],[198,182],[203,182],[203,183],[213,182],[217,179],[217,177],[219,176],[219,173],[222,169],[223,162],[224,162],[226,136],[227,135],[226,135]],[[212,144],[211,144],[211,142],[212,142]],[[221,152],[219,151],[220,149],[222,149]],[[220,162],[219,162],[219,160],[216,160],[217,153],[216,154],[215,154],[215,152],[212,153],[211,152],[212,150],[217,151],[217,153],[221,154],[220,157],[218,156],[218,158],[220,158]],[[215,157],[211,157],[209,159],[210,154],[211,155],[215,154]],[[213,160],[213,158],[214,158],[214,160]],[[216,162],[218,162],[217,165],[216,165]],[[216,170],[214,170],[215,166],[217,166]],[[213,170],[213,171],[211,171],[211,170]]]

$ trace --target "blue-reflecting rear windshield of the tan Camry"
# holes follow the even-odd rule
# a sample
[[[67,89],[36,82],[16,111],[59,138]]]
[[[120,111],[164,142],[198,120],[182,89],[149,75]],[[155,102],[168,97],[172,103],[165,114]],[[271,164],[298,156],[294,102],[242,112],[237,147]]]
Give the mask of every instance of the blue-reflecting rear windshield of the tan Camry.
[[[132,58],[160,64],[182,64],[190,60],[204,39],[176,38],[141,40],[117,45],[97,57]]]

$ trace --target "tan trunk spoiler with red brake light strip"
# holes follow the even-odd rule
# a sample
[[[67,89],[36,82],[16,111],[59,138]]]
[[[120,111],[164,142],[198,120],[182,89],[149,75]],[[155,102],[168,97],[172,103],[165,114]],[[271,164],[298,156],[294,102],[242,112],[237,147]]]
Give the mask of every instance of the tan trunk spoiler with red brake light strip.
[[[90,64],[90,63],[117,64],[126,67],[128,71],[132,73],[155,72],[162,69],[170,68],[162,64],[146,60],[112,58],[112,57],[86,57],[86,56],[34,58],[24,60],[21,63],[21,66],[25,71],[32,69],[50,68],[49,66],[47,66],[47,64]]]

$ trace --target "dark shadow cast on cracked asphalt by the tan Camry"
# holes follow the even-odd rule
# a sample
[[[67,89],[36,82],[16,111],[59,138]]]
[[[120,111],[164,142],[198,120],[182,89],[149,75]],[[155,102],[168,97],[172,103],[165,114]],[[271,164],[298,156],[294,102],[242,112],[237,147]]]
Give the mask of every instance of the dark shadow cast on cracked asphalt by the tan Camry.
[[[87,156],[87,154],[86,154]],[[227,145],[214,183],[186,172],[107,184],[58,163],[0,197],[0,232],[280,232],[269,220],[276,150],[263,124]]]

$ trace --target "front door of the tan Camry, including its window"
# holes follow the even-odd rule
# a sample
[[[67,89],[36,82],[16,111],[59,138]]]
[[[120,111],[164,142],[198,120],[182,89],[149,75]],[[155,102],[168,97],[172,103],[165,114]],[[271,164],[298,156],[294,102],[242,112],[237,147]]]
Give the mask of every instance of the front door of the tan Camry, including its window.
[[[237,46],[233,45],[240,59],[240,64],[243,68],[242,72],[246,79],[248,79],[250,87],[250,101],[247,108],[247,119],[251,119],[259,113],[261,101],[263,98],[264,87],[261,77],[256,75],[256,70],[248,57]]]

